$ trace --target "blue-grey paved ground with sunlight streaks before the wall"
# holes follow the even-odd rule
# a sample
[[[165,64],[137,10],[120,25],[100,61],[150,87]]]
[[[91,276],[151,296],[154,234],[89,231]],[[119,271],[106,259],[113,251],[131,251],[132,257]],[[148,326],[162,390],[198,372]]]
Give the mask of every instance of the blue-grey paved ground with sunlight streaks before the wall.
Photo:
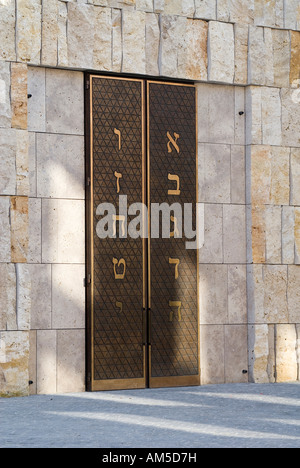
[[[0,399],[0,448],[300,448],[300,383]]]

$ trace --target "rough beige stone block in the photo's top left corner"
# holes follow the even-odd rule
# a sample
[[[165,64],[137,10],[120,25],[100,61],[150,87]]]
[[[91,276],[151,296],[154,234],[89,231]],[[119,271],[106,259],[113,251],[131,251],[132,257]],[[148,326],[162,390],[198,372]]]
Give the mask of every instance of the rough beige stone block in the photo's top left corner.
[[[16,4],[15,0],[0,2],[0,59],[16,60]]]

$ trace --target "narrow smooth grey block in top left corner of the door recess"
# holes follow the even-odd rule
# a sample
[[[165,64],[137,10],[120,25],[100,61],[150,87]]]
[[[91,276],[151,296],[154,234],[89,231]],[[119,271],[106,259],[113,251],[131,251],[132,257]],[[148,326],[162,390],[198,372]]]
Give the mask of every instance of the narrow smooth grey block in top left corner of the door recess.
[[[28,130],[46,131],[46,70],[30,67],[28,69]]]

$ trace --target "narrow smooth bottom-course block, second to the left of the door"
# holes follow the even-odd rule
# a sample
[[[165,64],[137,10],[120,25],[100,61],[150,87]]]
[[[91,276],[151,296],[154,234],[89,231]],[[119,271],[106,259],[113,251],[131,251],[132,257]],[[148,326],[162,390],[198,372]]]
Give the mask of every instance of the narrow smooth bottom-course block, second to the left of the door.
[[[37,331],[37,394],[56,393],[56,330]]]

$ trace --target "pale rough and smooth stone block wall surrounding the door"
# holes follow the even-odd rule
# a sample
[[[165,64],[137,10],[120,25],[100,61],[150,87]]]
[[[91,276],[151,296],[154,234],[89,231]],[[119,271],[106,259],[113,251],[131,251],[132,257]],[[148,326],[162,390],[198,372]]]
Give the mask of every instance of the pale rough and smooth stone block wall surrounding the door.
[[[0,44],[0,395],[84,388],[86,69],[199,83],[202,383],[299,379],[299,0],[0,0]]]

